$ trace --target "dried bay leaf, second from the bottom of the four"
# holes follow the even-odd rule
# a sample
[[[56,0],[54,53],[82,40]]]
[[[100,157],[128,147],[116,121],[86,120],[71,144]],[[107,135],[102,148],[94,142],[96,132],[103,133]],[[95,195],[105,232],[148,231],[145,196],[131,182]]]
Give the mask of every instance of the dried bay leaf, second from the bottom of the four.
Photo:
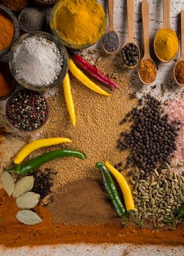
[[[27,192],[26,194],[20,195],[20,197],[16,199],[16,203],[20,209],[31,209],[34,208],[34,206],[37,206],[39,197],[39,194]]]

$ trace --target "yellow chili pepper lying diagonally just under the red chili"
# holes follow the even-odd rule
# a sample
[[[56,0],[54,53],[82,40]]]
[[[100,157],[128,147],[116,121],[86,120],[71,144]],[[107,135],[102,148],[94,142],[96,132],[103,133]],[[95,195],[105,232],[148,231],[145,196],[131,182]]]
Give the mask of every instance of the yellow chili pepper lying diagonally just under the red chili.
[[[102,90],[99,86],[93,83],[77,66],[74,64],[72,59],[69,59],[69,71],[72,72],[77,80],[80,80],[85,86],[87,86],[92,91],[95,91],[97,94],[102,94],[104,96],[110,96],[106,91]]]

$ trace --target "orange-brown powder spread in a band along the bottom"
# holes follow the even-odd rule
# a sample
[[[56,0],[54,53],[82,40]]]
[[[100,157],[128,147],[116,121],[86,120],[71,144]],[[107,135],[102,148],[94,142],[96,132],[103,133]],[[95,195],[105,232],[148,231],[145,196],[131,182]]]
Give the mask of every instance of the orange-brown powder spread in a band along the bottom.
[[[93,206],[91,206],[92,208]],[[15,218],[18,208],[15,199],[7,197],[0,190],[0,237],[1,244],[8,247],[35,246],[47,244],[78,244],[78,243],[133,243],[183,245],[184,222],[177,230],[140,229],[135,226],[123,228],[118,225],[64,225],[52,221],[48,211],[40,206],[37,214],[43,222],[38,225],[23,225]]]

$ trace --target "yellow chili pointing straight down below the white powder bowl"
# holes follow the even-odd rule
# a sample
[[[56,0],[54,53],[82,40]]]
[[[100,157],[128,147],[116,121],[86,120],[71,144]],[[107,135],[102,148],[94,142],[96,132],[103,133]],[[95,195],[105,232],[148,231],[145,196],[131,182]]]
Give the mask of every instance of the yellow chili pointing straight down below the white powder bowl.
[[[64,98],[66,101],[66,106],[69,111],[69,116],[72,121],[72,125],[75,126],[76,124],[76,119],[75,119],[75,113],[74,113],[74,102],[72,98],[72,91],[71,91],[71,84],[69,80],[69,73],[66,74],[64,80],[63,80],[63,85],[64,85]]]

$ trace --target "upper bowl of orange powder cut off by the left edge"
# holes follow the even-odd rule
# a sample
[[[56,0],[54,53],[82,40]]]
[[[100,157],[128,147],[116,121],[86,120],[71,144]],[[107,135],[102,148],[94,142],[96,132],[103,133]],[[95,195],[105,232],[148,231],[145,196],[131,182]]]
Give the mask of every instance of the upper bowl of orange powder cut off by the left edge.
[[[0,56],[8,53],[13,42],[18,39],[19,25],[15,15],[7,7],[0,4]]]

